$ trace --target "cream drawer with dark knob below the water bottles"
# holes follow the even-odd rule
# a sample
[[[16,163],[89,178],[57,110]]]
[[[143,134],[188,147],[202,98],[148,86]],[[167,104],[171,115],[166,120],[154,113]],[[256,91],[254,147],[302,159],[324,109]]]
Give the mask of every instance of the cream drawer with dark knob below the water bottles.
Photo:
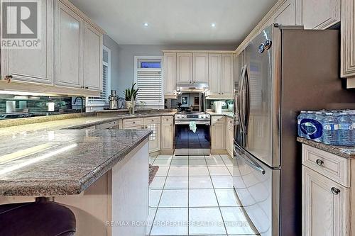
[[[339,184],[350,187],[350,159],[302,145],[302,164]]]

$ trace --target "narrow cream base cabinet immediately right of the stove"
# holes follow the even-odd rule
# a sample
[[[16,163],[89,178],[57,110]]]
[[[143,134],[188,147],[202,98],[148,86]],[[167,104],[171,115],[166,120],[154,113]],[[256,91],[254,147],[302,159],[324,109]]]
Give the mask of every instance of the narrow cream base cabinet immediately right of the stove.
[[[226,119],[224,116],[212,116],[211,152],[226,150]]]

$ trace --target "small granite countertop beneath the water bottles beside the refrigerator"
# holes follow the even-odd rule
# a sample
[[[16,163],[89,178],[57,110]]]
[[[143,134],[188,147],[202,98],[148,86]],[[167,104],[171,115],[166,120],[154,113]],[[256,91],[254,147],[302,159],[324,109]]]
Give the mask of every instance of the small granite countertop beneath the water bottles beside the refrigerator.
[[[305,145],[310,145],[311,147],[318,148],[318,149],[323,150],[325,152],[330,152],[332,154],[336,154],[340,157],[355,158],[355,146],[354,147],[344,147],[344,146],[326,145],[322,142],[315,142],[312,140],[307,140],[307,138],[304,138],[304,137],[297,137],[297,141],[302,142]]]

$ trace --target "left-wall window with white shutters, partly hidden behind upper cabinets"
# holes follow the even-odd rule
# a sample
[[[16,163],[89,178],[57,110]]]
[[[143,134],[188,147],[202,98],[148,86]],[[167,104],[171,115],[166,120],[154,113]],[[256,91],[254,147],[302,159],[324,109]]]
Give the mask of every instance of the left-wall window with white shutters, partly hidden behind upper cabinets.
[[[102,51],[102,92],[99,97],[88,99],[87,106],[105,106],[111,89],[111,50],[103,46]]]

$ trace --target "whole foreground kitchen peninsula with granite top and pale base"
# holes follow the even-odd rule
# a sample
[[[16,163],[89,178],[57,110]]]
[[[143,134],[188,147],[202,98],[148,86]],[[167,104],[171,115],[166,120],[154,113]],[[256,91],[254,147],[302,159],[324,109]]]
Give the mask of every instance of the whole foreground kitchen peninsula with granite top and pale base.
[[[53,197],[75,213],[76,235],[145,235],[144,225],[117,224],[145,222],[148,215],[149,135],[55,130],[2,136],[0,204]]]

